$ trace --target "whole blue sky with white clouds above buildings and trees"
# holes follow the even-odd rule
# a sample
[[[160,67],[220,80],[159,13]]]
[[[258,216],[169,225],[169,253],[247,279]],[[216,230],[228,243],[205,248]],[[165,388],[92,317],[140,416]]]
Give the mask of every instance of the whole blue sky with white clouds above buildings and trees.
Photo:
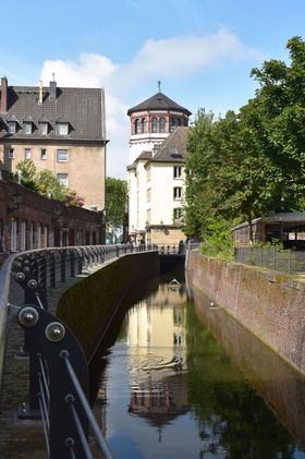
[[[1,4],[0,74],[11,85],[103,86],[109,176],[125,178],[126,110],[161,90],[196,113],[253,97],[251,69],[305,39],[304,0],[15,0]]]

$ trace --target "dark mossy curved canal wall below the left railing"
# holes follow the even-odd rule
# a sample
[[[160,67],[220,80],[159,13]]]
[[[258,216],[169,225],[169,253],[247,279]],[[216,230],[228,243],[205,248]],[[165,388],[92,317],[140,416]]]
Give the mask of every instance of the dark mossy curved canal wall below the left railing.
[[[103,265],[62,295],[57,315],[77,337],[87,359],[93,357],[129,287],[158,273],[158,252],[129,254]]]

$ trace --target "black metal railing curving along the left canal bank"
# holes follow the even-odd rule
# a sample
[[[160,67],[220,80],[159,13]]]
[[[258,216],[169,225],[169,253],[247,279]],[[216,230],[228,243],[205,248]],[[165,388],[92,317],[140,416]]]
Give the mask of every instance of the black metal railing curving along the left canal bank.
[[[89,430],[103,456],[111,454],[88,403],[83,350],[65,324],[48,311],[48,290],[111,258],[151,250],[156,247],[145,244],[36,250],[11,255],[0,270],[0,372],[10,306],[24,329],[23,353],[29,358],[28,406],[23,403],[17,416],[41,420],[51,459],[93,458]],[[9,303],[12,278],[24,291],[22,306]]]

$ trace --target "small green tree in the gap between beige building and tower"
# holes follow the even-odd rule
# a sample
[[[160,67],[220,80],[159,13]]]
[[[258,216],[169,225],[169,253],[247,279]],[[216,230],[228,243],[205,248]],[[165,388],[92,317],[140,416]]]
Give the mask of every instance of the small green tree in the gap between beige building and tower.
[[[126,213],[127,184],[124,180],[106,178],[106,219],[108,227],[123,225]]]

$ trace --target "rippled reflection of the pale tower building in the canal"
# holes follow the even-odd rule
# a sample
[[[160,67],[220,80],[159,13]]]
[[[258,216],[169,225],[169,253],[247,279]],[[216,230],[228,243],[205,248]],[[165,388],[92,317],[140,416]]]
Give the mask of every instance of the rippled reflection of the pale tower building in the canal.
[[[161,285],[149,301],[142,301],[129,313],[127,341],[134,369],[129,411],[158,427],[187,411],[183,294]]]

